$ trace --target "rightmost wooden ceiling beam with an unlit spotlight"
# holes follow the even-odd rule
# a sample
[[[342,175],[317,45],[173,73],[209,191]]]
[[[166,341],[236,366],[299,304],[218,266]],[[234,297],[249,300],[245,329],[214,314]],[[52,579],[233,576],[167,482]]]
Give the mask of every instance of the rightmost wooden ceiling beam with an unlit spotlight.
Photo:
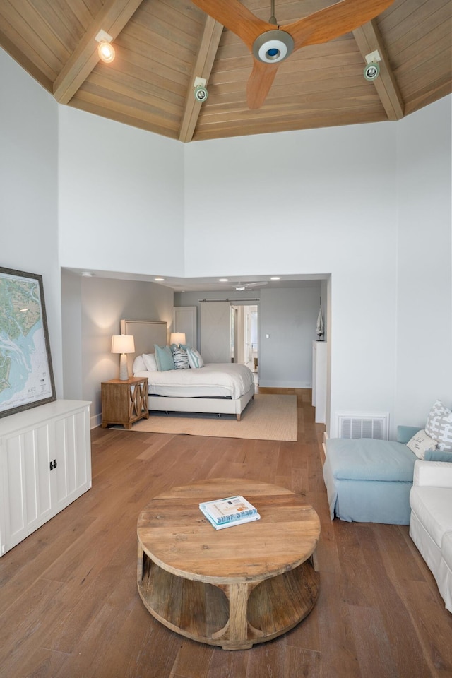
[[[381,61],[380,75],[373,81],[377,94],[380,97],[381,103],[386,111],[389,120],[400,120],[404,114],[404,103],[400,90],[398,88],[396,78],[389,64],[388,54],[384,46],[383,38],[381,37],[376,20],[365,23],[353,31],[353,36],[357,42],[359,52],[362,54],[364,63],[366,62],[366,54],[371,54],[378,49]]]

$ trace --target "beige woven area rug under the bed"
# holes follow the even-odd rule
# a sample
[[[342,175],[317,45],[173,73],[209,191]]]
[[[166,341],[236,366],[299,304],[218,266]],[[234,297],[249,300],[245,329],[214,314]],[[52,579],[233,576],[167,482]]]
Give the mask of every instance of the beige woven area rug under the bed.
[[[148,433],[184,433],[190,436],[215,438],[296,441],[297,396],[257,394],[242,412],[239,422],[235,415],[219,417],[194,412],[169,412],[168,415],[150,412],[149,419],[136,422],[129,430]]]

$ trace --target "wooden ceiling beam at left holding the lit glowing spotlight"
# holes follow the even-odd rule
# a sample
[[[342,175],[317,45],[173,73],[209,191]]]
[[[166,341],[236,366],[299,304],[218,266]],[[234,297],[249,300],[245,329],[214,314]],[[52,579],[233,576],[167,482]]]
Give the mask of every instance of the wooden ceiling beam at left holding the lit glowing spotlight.
[[[93,71],[99,61],[95,37],[101,28],[114,40],[141,2],[142,0],[107,0],[105,2],[54,82],[54,97],[57,101],[67,104]]]

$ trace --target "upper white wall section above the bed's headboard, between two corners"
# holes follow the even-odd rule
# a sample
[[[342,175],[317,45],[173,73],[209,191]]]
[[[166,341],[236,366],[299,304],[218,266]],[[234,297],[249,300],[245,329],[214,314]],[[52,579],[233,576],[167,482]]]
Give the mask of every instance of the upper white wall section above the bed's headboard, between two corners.
[[[184,145],[59,107],[66,268],[184,275]]]

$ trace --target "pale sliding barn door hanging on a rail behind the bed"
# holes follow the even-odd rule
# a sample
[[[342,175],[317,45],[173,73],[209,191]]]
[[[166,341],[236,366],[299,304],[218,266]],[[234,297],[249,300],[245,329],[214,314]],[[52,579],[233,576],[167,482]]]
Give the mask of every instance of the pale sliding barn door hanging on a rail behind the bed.
[[[231,362],[230,302],[201,303],[201,355],[204,362]]]

